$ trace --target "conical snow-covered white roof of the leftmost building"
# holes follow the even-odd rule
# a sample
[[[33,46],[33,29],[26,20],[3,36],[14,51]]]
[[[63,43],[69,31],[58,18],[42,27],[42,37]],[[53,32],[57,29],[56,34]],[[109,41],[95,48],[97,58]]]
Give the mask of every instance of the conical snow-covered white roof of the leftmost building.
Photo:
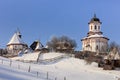
[[[22,39],[19,37],[18,33],[14,33],[14,35],[12,36],[11,40],[9,41],[9,43],[7,45],[10,44],[25,44]]]

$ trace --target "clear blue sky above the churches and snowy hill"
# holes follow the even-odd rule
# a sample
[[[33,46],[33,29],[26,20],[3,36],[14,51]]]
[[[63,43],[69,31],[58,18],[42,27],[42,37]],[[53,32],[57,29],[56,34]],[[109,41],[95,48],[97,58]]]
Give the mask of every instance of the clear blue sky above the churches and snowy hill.
[[[51,36],[66,35],[80,50],[94,13],[104,36],[120,44],[120,0],[0,0],[0,47],[19,28],[28,45],[36,39],[45,45]]]

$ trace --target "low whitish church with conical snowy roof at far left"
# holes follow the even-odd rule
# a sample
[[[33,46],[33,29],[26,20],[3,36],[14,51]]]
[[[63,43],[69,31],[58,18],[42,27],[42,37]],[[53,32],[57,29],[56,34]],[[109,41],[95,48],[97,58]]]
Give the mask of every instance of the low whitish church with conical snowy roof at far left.
[[[16,31],[7,44],[7,50],[12,55],[18,55],[19,51],[24,51],[28,46],[22,41],[20,31]]]

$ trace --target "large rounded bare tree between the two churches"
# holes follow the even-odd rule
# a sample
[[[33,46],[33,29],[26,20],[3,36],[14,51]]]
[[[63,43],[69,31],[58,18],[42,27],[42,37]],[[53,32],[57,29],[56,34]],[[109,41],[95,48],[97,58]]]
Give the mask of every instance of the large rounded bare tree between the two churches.
[[[52,37],[50,41],[47,42],[49,49],[56,51],[57,49],[75,49],[77,44],[75,40],[70,39],[67,36]]]

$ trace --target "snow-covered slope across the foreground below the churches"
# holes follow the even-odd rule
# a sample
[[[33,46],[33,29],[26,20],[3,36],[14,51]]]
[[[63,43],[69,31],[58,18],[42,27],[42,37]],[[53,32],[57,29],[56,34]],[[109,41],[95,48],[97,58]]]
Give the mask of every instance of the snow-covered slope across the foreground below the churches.
[[[40,59],[63,56],[61,53],[45,53]],[[3,60],[3,62],[2,62]],[[30,71],[30,72],[28,72]],[[97,67],[97,63],[87,65],[84,60],[64,57],[57,62],[46,64],[22,63],[0,57],[0,80],[118,80],[120,71]]]

